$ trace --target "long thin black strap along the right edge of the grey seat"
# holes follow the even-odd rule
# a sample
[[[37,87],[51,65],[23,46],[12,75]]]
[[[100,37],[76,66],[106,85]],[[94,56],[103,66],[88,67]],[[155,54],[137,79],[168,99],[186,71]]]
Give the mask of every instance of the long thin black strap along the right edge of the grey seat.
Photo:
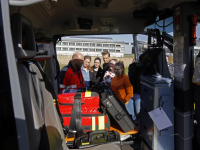
[[[46,76],[46,74],[44,73],[44,71],[41,69],[41,66],[38,64],[37,61],[35,60],[32,60],[32,62],[38,67],[42,77],[43,77],[43,80],[44,80],[44,83],[45,83],[45,87],[46,89],[51,93],[53,99],[55,99],[55,102],[56,102],[56,110],[58,112],[58,115],[59,115],[59,118],[60,118],[60,121],[61,121],[61,124],[63,126],[63,118],[62,118],[62,115],[60,113],[60,109],[58,107],[58,100],[57,100],[57,96],[56,96],[56,93],[55,93],[55,90],[54,90],[54,87],[52,85],[52,83],[50,82],[50,80],[48,79],[48,77]],[[65,128],[64,128],[65,129]]]

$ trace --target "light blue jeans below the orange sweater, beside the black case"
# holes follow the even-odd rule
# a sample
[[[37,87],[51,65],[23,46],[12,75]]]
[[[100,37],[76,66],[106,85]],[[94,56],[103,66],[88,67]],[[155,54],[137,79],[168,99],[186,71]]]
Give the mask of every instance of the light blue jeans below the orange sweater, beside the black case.
[[[136,118],[139,119],[138,114],[140,113],[140,102],[141,102],[140,98],[137,99],[131,98],[128,104],[125,104],[125,107],[128,113],[132,115],[133,120],[136,120]]]

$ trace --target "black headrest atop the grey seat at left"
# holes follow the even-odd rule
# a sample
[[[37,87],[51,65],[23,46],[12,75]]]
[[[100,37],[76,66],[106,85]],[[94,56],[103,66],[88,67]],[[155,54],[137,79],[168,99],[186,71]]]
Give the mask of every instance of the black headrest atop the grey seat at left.
[[[21,14],[13,14],[11,31],[15,57],[18,59],[34,58],[36,46],[32,22]]]

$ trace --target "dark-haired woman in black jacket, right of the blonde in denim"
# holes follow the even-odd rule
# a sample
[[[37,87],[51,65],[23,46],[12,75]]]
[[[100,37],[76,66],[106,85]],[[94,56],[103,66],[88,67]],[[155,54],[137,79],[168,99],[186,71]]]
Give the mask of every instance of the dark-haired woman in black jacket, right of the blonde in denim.
[[[93,69],[93,74],[95,76],[93,82],[94,83],[99,83],[103,79],[103,69],[100,67],[101,65],[101,59],[99,57],[96,57],[94,59],[94,66],[92,66]]]

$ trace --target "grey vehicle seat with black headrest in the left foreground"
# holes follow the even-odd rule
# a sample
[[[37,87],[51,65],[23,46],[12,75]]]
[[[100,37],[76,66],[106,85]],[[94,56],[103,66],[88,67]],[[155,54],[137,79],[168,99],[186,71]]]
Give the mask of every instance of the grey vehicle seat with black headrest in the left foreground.
[[[52,95],[46,90],[38,67],[29,61],[36,56],[32,23],[22,15],[14,14],[11,17],[11,30],[30,150],[66,150],[68,148]]]

